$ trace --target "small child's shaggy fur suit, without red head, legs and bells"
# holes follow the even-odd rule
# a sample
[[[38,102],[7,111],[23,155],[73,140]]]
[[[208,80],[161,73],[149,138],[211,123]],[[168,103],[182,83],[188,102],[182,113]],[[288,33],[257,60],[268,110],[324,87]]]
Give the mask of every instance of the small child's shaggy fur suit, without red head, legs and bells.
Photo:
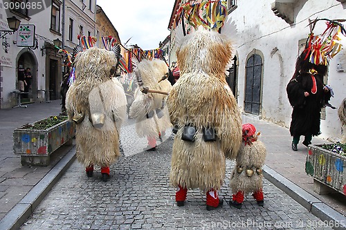
[[[242,143],[239,154],[237,155],[237,165],[233,169],[230,178],[230,188],[233,193],[242,191],[244,195],[247,193],[255,193],[258,190],[262,190],[263,174],[256,173],[256,169],[262,169],[264,161],[266,159],[266,146],[263,142],[257,140],[247,144]],[[238,166],[242,167],[242,172],[238,173]],[[254,173],[251,177],[246,175],[246,169],[253,169]]]

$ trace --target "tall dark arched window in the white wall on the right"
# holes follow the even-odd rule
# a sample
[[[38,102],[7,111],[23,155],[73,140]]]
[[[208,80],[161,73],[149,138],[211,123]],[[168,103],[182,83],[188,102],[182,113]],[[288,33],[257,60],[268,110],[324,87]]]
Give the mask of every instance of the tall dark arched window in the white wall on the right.
[[[260,115],[261,104],[262,58],[251,55],[246,62],[246,85],[244,96],[244,111]]]

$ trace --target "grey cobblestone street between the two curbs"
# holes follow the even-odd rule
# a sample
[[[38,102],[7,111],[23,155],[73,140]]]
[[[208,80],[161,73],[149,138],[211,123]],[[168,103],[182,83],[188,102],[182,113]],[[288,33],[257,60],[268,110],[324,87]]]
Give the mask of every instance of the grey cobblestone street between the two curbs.
[[[320,219],[267,180],[262,208],[248,195],[241,210],[224,203],[221,209],[206,211],[205,194],[199,190],[188,192],[185,207],[176,207],[168,178],[172,137],[154,152],[139,153],[139,146],[111,166],[109,182],[100,180],[99,169],[86,178],[84,167],[75,161],[21,230],[331,229],[320,227]],[[226,202],[232,195],[228,182],[233,165],[227,162],[219,191]]]

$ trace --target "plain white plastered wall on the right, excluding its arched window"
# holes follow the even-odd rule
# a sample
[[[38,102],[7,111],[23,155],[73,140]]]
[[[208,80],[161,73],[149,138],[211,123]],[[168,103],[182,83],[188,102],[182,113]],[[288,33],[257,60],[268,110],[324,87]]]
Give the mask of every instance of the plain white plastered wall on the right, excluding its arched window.
[[[286,84],[294,72],[295,60],[298,57],[298,41],[307,39],[309,35],[308,19],[345,19],[346,6],[336,0],[297,1],[295,22],[289,25],[274,15],[271,10],[272,2],[272,0],[238,1],[237,9],[230,14],[239,31],[235,46],[239,59],[238,103],[244,109],[246,58],[253,50],[259,50],[263,55],[264,64],[261,117],[289,127],[292,108],[286,96]],[[325,23],[320,21],[313,32],[320,34],[325,28]],[[346,97],[346,73],[336,70],[338,55],[329,64],[327,82],[336,94],[330,101],[334,106],[339,106]],[[320,137],[338,140],[340,121],[337,110],[326,108],[326,113],[326,119],[321,120]]]

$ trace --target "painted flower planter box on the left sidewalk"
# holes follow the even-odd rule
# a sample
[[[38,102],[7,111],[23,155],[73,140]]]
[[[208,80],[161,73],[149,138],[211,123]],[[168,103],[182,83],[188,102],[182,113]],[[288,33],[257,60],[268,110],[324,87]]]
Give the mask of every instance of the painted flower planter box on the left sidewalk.
[[[22,165],[48,166],[51,154],[63,144],[72,144],[75,124],[64,120],[43,130],[16,128],[13,131],[13,151],[21,155]]]

